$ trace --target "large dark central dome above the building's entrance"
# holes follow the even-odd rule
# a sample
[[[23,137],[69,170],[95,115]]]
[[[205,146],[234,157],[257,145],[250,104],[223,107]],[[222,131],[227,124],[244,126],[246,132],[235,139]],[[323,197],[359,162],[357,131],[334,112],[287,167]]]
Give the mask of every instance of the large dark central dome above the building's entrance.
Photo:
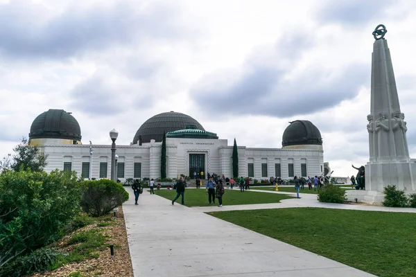
[[[146,120],[137,130],[133,144],[150,143],[150,139],[161,142],[163,133],[185,129],[188,125],[195,125],[196,129],[205,131],[200,123],[186,114],[175,111],[157,114]]]

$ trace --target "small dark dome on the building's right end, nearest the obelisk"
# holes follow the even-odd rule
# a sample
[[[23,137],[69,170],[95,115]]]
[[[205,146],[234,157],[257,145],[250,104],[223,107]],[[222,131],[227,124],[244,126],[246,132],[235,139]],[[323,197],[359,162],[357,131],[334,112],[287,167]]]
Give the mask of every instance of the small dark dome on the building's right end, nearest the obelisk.
[[[295,120],[290,122],[283,133],[281,145],[322,145],[319,129],[309,120]]]

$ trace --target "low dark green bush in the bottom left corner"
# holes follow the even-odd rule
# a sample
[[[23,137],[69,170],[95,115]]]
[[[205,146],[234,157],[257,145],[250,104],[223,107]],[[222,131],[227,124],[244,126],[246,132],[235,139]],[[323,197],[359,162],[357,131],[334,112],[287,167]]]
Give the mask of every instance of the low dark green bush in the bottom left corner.
[[[1,276],[20,277],[49,269],[61,257],[67,256],[53,248],[40,248],[24,257],[19,257],[0,271]]]

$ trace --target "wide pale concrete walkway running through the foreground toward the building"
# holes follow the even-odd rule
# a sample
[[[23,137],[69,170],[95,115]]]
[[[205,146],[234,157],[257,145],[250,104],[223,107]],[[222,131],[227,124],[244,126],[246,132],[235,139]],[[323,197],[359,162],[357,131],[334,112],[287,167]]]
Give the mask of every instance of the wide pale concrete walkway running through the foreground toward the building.
[[[373,276],[157,195],[144,193],[135,206],[127,190],[123,212],[136,277]]]

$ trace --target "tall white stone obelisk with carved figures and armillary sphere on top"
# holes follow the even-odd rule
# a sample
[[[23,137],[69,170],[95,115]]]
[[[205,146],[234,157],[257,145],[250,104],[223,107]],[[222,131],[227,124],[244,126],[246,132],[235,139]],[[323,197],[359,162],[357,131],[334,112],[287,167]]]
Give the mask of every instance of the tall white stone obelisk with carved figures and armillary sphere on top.
[[[348,199],[376,205],[383,202],[385,186],[416,193],[416,160],[409,157],[406,121],[400,109],[385,33],[383,25],[373,32],[376,41],[372,53],[371,107],[367,116],[370,161],[365,166],[365,190],[347,194]]]

